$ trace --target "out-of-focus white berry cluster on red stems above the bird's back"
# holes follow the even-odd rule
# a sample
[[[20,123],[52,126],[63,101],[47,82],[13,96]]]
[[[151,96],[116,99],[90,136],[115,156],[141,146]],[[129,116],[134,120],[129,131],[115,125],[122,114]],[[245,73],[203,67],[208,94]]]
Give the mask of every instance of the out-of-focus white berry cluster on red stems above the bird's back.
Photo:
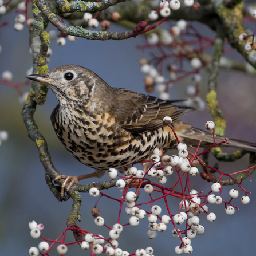
[[[137,48],[156,49],[160,54],[157,56],[154,52],[151,60],[145,58],[140,60],[141,72],[146,74],[144,84],[147,92],[152,93],[156,88],[160,93],[160,99],[168,100],[170,99],[169,89],[175,83],[192,76],[194,85],[187,87],[186,105],[203,110],[206,104],[198,95],[199,83],[202,80],[199,72],[210,64],[203,58],[203,52],[213,45],[214,39],[202,37],[195,27],[188,25],[183,19],[176,22],[175,26],[170,25],[168,30],[157,30],[149,34],[147,42]],[[170,49],[172,53],[169,53]],[[184,65],[184,60],[190,61],[190,67]],[[169,64],[166,66],[166,74],[163,67],[167,61]]]

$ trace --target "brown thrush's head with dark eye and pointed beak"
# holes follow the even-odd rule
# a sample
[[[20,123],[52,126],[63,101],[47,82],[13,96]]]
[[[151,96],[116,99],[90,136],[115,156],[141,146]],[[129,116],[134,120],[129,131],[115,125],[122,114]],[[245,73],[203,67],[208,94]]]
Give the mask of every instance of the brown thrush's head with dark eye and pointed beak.
[[[31,74],[30,80],[49,85],[57,100],[87,101],[105,82],[91,70],[76,65],[57,66],[46,74]]]

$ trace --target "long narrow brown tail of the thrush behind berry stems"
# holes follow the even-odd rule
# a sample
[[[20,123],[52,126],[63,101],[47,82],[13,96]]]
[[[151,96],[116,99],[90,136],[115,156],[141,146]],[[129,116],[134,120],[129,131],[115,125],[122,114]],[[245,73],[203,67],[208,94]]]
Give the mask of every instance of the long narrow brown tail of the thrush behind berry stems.
[[[213,144],[213,135],[210,132],[203,131],[201,129],[190,127],[186,128],[181,132],[177,132],[178,137],[183,139],[183,142],[187,145],[195,146],[198,145],[199,140],[202,140],[200,147],[210,147]],[[227,141],[227,143],[221,144],[221,147],[234,147],[239,149],[244,149],[246,151],[256,152],[256,143],[250,143],[243,140],[231,139],[229,137],[223,137],[215,135],[215,143],[220,143],[222,141]]]

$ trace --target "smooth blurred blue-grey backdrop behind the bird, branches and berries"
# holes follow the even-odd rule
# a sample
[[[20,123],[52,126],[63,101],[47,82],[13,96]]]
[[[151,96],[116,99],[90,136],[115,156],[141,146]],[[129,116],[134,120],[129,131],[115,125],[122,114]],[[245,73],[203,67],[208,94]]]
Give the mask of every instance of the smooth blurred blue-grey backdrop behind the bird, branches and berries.
[[[14,82],[24,82],[26,71],[32,64],[32,57],[29,54],[29,31],[28,29],[19,33],[14,31],[16,15],[10,13],[1,18],[1,23],[8,21],[9,26],[0,30],[0,45],[2,46],[0,73],[10,70],[13,72]],[[207,27],[199,23],[194,23],[194,25],[200,33],[214,37],[214,33]],[[53,27],[49,26],[48,31],[50,29]],[[255,27],[252,29],[254,30]],[[113,24],[111,30],[121,32],[125,29]],[[63,47],[57,46],[56,41],[52,41],[50,48],[53,54],[50,57],[49,70],[65,64],[81,65],[93,70],[113,87],[145,93],[143,83],[145,75],[140,72],[139,59],[149,58],[151,52],[143,53],[136,49],[136,45],[142,44],[143,36],[124,41],[90,41],[78,38],[76,42],[67,40]],[[229,53],[227,57],[243,61],[235,51]],[[199,95],[205,99],[208,73],[202,71],[200,74],[203,76],[203,81],[200,82]],[[255,81],[255,77],[245,73],[220,72],[218,99],[227,121],[226,136],[256,142]],[[190,84],[191,78],[175,84],[170,91],[171,99],[184,99],[186,87]],[[22,90],[27,92],[29,89],[27,87]],[[152,95],[158,96],[157,92]],[[57,139],[50,123],[50,113],[56,105],[56,98],[49,90],[46,104],[38,106],[35,115],[40,132],[48,142],[54,166],[62,174],[72,176],[93,171],[74,159]],[[56,239],[66,227],[66,219],[72,206],[72,200],[58,202],[46,185],[45,171],[40,163],[36,145],[27,137],[21,110],[22,104],[19,103],[19,95],[15,89],[0,85],[0,131],[9,132],[9,139],[4,141],[0,147],[0,255],[28,255],[31,246],[38,246],[42,240],[31,238],[27,225],[31,220],[44,224],[45,229],[41,231],[43,237]],[[212,119],[208,110],[205,109],[200,112],[191,112],[182,117],[182,120],[204,129],[206,121]],[[234,152],[234,150],[229,149],[228,152]],[[210,164],[213,165],[215,162],[211,158]],[[220,163],[219,168],[225,172],[235,172],[246,169],[247,164],[248,156],[245,156],[236,163]],[[100,182],[107,179],[109,178],[105,175],[101,179],[88,179],[80,183],[90,184],[93,181]],[[175,175],[168,179],[170,186],[175,179]],[[227,216],[223,204],[209,206],[210,212],[215,212],[216,220],[212,223],[206,220],[206,216],[200,218],[200,224],[206,230],[202,236],[192,240],[194,255],[255,255],[255,174],[252,175],[252,179],[252,182],[247,179],[242,183],[247,191],[252,192],[250,203],[245,206],[241,203],[241,197],[244,194],[239,190],[239,197],[234,199],[233,203],[240,210],[236,210],[234,215]],[[203,190],[203,194],[210,191],[211,183],[202,180],[200,175],[192,178],[191,183],[191,188]],[[237,186],[225,187],[223,199],[229,200],[228,192],[231,188],[237,189]],[[104,192],[117,198],[121,196],[117,188]],[[90,215],[96,200],[97,198],[91,198],[88,194],[82,195],[80,211],[82,222],[77,224],[85,230],[108,237],[108,230],[105,227],[94,225],[94,219]],[[139,200],[146,202],[149,196],[141,192]],[[178,213],[179,201],[173,198],[168,199],[171,211],[175,214]],[[105,223],[112,227],[117,222],[118,204],[103,198],[98,208]],[[145,210],[149,210],[149,206],[145,206]],[[162,212],[162,214],[166,213]],[[121,223],[128,223],[128,220],[128,215],[121,216]],[[137,227],[125,227],[119,238],[119,247],[133,253],[137,248],[152,246],[155,250],[154,255],[175,255],[174,248],[180,245],[180,242],[172,237],[172,229],[170,224],[164,233],[158,233],[155,239],[149,240],[147,237],[148,221],[140,220],[140,225]],[[68,233],[66,241],[73,241],[71,233]],[[50,250],[49,255],[57,255],[56,250],[54,248]],[[90,255],[90,251],[82,251],[79,246],[72,245],[68,247],[66,255]]]

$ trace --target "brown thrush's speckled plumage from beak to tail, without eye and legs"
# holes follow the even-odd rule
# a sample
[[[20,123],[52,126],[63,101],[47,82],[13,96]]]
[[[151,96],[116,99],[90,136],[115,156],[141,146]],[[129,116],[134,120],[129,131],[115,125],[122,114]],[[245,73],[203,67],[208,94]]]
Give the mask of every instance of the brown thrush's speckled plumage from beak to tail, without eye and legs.
[[[65,74],[74,77],[68,81]],[[97,74],[75,65],[58,66],[44,75],[28,78],[48,84],[58,105],[51,120],[58,138],[81,163],[98,170],[121,168],[145,159],[156,147],[176,148],[175,137],[164,127],[163,117],[170,116],[180,142],[202,146],[212,144],[211,133],[179,120],[187,107],[171,101],[111,88]],[[217,136],[216,141],[223,141]],[[255,145],[229,140],[233,147],[256,151]]]

